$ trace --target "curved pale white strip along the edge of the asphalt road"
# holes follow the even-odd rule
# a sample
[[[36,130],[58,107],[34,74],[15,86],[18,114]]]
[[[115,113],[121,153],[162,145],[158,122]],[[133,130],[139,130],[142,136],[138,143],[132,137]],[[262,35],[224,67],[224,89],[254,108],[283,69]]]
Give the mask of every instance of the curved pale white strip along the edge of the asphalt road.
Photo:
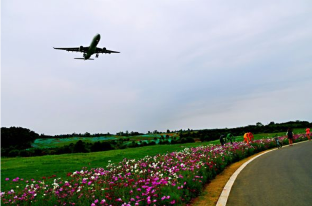
[[[294,144],[300,144],[300,143],[304,143],[304,142],[308,142],[308,140],[299,142],[299,143],[294,143]],[[289,145],[285,145],[283,147],[286,147]],[[216,206],[226,206],[232,186],[238,176],[238,174],[245,168],[245,166],[247,166],[249,163],[251,163],[254,159],[260,157],[261,155],[264,155],[268,152],[272,152],[274,150],[276,150],[277,148],[274,149],[270,149],[268,151],[265,151],[255,157],[253,157],[252,159],[250,159],[249,161],[247,161],[246,163],[244,163],[243,165],[241,165],[238,169],[236,169],[236,171],[233,173],[233,175],[230,177],[229,181],[226,183],[226,185],[223,187],[222,193],[220,194],[220,197],[218,199],[218,202],[216,203]]]

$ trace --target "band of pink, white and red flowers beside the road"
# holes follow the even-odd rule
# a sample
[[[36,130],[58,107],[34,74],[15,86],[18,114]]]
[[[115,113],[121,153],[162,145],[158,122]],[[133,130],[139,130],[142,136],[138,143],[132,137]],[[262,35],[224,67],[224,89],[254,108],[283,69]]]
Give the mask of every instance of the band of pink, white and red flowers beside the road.
[[[287,138],[280,137],[284,144]],[[295,135],[294,142],[306,140]],[[67,178],[6,179],[1,205],[171,206],[187,205],[225,166],[275,147],[273,139],[185,148],[140,160],[124,159],[106,168],[82,168]],[[22,174],[21,174],[22,175]]]

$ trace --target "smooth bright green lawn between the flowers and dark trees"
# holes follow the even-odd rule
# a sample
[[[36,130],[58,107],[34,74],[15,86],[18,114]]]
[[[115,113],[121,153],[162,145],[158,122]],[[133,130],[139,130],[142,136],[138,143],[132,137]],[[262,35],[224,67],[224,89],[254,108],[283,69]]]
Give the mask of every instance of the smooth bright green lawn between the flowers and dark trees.
[[[305,129],[295,129],[295,133],[303,133]],[[285,132],[278,133],[285,135]],[[257,134],[254,135],[255,139],[271,138],[273,134]],[[236,138],[237,141],[242,141],[243,137]],[[155,145],[137,148],[129,148],[123,150],[111,150],[105,152],[93,153],[77,153],[77,154],[64,154],[64,155],[47,155],[42,157],[25,157],[25,158],[1,158],[1,191],[11,189],[10,180],[20,177],[25,180],[31,178],[40,180],[42,177],[49,177],[57,175],[57,177],[65,177],[68,172],[81,170],[82,167],[95,168],[105,167],[108,161],[111,163],[118,163],[124,158],[127,159],[140,159],[147,155],[155,156],[173,151],[182,150],[184,147],[195,147],[207,144],[220,144],[219,140],[205,142],[205,143],[190,143],[190,144],[173,144],[173,145]]]

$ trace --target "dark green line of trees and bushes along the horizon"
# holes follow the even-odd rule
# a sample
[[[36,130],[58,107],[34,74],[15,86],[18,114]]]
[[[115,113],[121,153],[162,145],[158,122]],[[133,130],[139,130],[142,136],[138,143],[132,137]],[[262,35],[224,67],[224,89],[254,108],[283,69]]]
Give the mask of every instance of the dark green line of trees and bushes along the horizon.
[[[124,149],[129,147],[139,147],[146,145],[155,145],[158,144],[183,144],[195,142],[194,139],[200,139],[202,142],[213,141],[219,139],[220,135],[232,133],[234,136],[243,135],[246,132],[253,132],[254,134],[259,133],[277,133],[277,132],[286,132],[287,129],[291,128],[305,128],[312,127],[312,123],[307,121],[294,121],[287,123],[277,123],[271,122],[267,125],[257,123],[255,125],[248,125],[244,127],[236,128],[223,128],[223,129],[202,129],[202,130],[179,130],[171,131],[167,130],[167,133],[176,133],[178,137],[174,137],[169,141],[169,136],[161,136],[159,141],[157,138],[154,138],[152,141],[130,141],[129,136],[142,135],[139,132],[118,132],[118,136],[123,136],[124,138],[118,138],[118,140],[111,140],[105,142],[96,142],[89,143],[79,140],[76,144],[69,144],[61,147],[53,148],[33,148],[31,145],[36,139],[39,138],[70,138],[70,137],[103,137],[111,136],[110,133],[98,133],[90,134],[88,132],[84,134],[67,134],[67,135],[55,135],[48,136],[44,134],[37,134],[34,131],[31,131],[27,128],[22,127],[1,127],[1,156],[8,157],[29,157],[29,156],[40,156],[40,155],[52,155],[52,154],[66,154],[66,153],[78,153],[78,152],[96,152],[96,151],[106,151],[112,149]],[[153,134],[160,134],[155,130]],[[148,132],[148,134],[152,134]],[[126,142],[131,142],[126,144]]]

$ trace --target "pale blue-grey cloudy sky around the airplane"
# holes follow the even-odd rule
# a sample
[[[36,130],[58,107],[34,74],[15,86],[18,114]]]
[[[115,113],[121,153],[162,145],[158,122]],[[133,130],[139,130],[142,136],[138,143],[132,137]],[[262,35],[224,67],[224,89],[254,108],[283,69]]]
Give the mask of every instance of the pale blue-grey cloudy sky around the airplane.
[[[312,121],[311,0],[1,0],[1,127]],[[53,47],[120,51],[95,61]]]

